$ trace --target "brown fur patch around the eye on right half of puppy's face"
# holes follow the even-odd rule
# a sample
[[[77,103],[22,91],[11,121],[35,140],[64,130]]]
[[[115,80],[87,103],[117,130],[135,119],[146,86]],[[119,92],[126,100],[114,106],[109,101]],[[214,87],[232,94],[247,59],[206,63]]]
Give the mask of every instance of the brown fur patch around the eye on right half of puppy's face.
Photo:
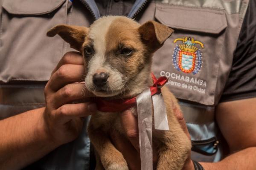
[[[118,18],[114,20],[106,34],[107,62],[120,73],[124,75],[129,81],[134,78],[145,65],[145,46],[141,43],[140,34],[137,29],[140,25],[138,23],[131,23],[129,20]],[[116,51],[120,45],[133,48],[135,51],[130,57],[116,57]]]

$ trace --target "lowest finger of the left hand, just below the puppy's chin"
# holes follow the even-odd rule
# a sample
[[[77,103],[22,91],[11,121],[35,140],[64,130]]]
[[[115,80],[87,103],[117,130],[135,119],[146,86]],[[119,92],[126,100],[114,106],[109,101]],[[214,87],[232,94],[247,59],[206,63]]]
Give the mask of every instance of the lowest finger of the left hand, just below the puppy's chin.
[[[95,103],[77,103],[62,105],[55,112],[55,118],[64,122],[75,117],[84,117],[93,114],[97,110]]]

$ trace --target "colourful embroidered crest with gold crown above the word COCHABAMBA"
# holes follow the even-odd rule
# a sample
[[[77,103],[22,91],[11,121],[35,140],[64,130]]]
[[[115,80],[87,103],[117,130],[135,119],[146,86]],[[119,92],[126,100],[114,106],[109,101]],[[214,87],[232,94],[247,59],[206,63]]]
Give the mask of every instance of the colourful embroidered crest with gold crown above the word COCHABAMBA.
[[[182,41],[180,45],[176,45],[173,51],[173,65],[178,71],[184,73],[197,74],[202,66],[201,49],[196,47],[199,44],[204,48],[204,44],[200,41],[195,41],[191,37],[177,38],[173,42]]]

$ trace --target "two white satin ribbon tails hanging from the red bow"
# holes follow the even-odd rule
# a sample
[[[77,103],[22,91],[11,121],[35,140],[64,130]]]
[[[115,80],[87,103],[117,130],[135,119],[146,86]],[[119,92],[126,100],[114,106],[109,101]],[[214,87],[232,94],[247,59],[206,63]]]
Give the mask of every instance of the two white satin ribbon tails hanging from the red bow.
[[[152,145],[152,104],[154,106],[155,129],[169,130],[166,106],[162,94],[152,96],[147,88],[136,97],[140,142],[141,170],[153,170],[153,145]]]

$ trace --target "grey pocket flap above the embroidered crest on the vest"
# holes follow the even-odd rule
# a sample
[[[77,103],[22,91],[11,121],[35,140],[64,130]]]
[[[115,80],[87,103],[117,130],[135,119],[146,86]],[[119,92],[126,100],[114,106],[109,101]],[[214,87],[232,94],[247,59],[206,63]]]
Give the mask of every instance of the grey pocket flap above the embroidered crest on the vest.
[[[155,17],[172,28],[210,34],[218,34],[227,27],[224,11],[208,8],[177,7],[157,3]]]

